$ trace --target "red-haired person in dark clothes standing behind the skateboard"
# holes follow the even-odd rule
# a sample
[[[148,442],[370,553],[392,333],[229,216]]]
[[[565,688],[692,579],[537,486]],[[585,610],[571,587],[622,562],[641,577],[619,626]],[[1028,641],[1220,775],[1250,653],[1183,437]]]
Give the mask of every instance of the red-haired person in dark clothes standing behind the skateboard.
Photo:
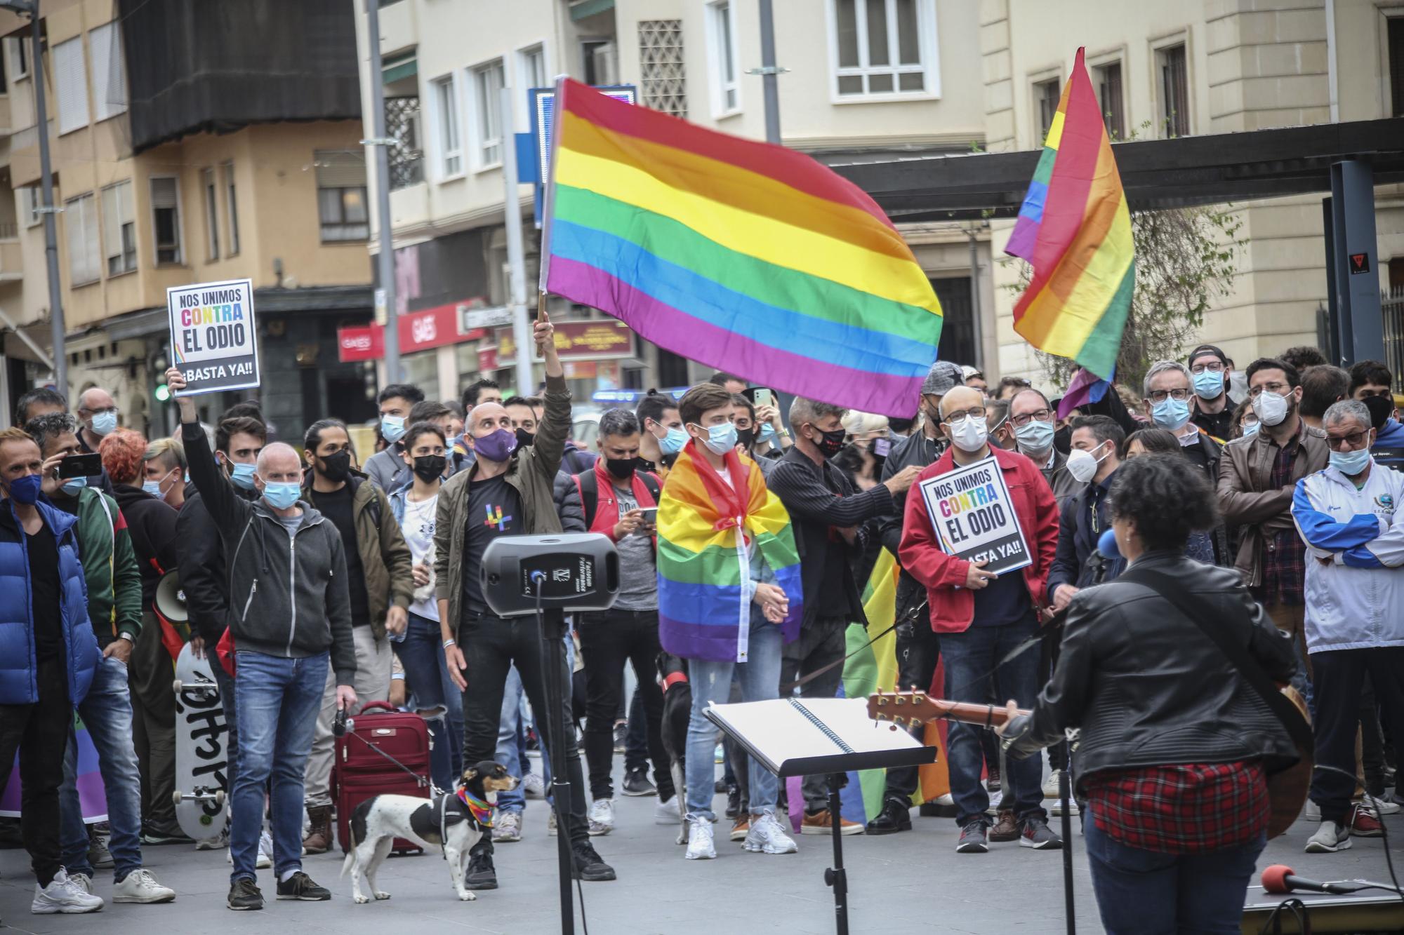
[[[108,432],[97,448],[112,494],[132,533],[142,569],[142,632],[132,649],[132,740],[142,767],[143,844],[190,844],[176,823],[176,692],[163,626],[152,609],[156,585],[177,563],[176,510],[142,490],[146,438],[131,428]]]

